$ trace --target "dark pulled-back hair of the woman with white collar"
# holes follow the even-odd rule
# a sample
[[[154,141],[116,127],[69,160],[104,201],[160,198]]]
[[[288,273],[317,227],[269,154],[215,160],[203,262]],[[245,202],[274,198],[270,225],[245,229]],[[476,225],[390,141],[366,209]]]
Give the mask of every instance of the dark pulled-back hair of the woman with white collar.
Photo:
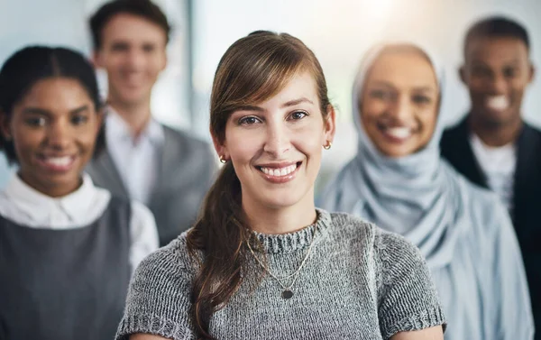
[[[96,113],[102,108],[96,74],[88,60],[77,51],[57,47],[29,46],[16,51],[0,69],[0,115],[9,120],[14,106],[23,99],[35,83],[47,78],[72,78],[87,90]],[[102,124],[97,135],[95,156],[105,147]],[[0,151],[10,163],[17,162],[14,142],[0,133]]]

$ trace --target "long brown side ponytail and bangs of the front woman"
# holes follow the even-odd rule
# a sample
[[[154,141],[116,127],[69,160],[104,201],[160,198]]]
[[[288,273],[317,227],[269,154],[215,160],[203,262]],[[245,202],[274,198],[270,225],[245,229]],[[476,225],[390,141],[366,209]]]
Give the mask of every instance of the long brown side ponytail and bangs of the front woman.
[[[299,72],[310,72],[323,118],[329,112],[326,79],[316,56],[297,38],[287,33],[252,32],[235,41],[220,60],[215,72],[210,103],[210,131],[218,142],[225,141],[230,115],[243,106],[275,96]],[[225,164],[206,195],[199,219],[188,233],[188,251],[201,262],[192,287],[192,318],[202,339],[209,334],[210,317],[225,307],[242,283],[241,271],[251,234],[242,209],[241,184],[231,162]]]

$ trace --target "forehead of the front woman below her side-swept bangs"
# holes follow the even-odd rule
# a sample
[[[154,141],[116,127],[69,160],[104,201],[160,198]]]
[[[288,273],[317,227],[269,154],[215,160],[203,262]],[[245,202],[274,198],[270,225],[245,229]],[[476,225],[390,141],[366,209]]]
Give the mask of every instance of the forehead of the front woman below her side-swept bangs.
[[[319,102],[316,91],[316,80],[309,71],[302,71],[289,79],[286,85],[274,96],[258,103],[258,106],[281,106],[291,100],[307,98],[314,105]]]

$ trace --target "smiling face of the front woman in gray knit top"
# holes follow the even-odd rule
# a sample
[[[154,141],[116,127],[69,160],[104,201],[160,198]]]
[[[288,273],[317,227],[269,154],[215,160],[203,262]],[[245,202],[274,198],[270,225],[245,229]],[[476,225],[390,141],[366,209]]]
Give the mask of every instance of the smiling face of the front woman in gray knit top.
[[[289,81],[279,94],[235,111],[216,151],[233,162],[243,207],[314,205],[322,148],[333,140],[335,113],[326,121],[310,73]]]

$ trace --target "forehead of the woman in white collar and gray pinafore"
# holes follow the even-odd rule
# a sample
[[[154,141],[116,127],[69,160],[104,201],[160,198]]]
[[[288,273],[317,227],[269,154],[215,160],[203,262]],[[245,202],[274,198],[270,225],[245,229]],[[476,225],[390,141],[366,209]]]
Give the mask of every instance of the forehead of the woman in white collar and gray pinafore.
[[[19,106],[35,107],[50,112],[63,112],[92,104],[87,90],[78,80],[71,78],[46,78],[37,81],[21,98]]]

